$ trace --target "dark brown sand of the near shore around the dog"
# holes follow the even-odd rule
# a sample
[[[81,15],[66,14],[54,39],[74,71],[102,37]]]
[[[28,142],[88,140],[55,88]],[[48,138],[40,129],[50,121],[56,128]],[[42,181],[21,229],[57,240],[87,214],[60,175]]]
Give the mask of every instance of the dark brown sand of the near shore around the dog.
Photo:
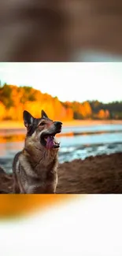
[[[13,177],[0,169],[0,192],[12,192]],[[57,194],[121,194],[122,153],[65,162],[58,167]]]

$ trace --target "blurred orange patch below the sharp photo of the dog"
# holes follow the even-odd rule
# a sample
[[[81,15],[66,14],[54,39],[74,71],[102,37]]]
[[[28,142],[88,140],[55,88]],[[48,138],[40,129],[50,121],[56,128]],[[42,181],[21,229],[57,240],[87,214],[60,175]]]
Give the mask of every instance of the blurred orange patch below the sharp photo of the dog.
[[[50,208],[73,195],[0,195],[0,218],[14,218]]]

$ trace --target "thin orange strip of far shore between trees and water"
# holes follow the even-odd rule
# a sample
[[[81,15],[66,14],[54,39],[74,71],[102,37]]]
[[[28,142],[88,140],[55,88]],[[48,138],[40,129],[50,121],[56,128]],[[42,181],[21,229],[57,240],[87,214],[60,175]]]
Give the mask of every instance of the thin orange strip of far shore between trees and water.
[[[64,121],[64,127],[70,126],[85,126],[85,125],[100,125],[100,124],[122,124],[122,120],[72,120],[72,121]],[[0,130],[1,129],[23,129],[24,123],[20,121],[1,121],[0,122]]]

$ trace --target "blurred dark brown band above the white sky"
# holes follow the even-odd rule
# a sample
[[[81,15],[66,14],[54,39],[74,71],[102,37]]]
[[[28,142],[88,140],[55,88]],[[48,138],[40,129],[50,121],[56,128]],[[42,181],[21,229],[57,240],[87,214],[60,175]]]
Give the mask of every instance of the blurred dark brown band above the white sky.
[[[0,32],[0,61],[121,59],[122,1],[2,0]]]

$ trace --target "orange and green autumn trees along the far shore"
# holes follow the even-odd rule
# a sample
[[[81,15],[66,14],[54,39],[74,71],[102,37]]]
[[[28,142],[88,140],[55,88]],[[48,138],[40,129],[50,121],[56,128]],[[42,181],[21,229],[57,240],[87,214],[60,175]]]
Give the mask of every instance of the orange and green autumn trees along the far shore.
[[[61,102],[32,87],[0,85],[0,120],[22,121],[24,109],[35,117],[40,117],[41,109],[44,109],[51,119],[61,121],[122,119],[122,102]]]

